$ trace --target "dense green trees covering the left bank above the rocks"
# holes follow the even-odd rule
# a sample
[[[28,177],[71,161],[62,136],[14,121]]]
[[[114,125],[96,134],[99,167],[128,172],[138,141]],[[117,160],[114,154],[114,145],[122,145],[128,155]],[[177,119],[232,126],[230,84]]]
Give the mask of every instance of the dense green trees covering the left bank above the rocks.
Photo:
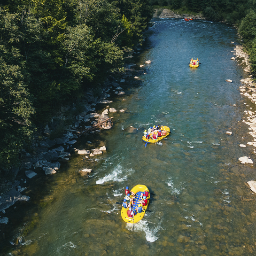
[[[29,143],[33,124],[79,98],[142,42],[147,0],[4,0],[0,5],[0,165]]]

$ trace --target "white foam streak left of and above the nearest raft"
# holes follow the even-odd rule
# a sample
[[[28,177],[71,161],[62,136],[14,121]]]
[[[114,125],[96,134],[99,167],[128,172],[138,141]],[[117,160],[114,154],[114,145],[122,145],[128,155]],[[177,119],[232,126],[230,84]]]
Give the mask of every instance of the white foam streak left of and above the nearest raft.
[[[111,173],[106,175],[104,178],[98,179],[96,181],[96,184],[103,184],[104,182],[107,182],[110,180],[122,182],[128,178],[127,176],[129,174],[132,174],[133,172],[134,170],[132,168],[127,170],[127,169],[124,169],[123,166],[118,164]]]

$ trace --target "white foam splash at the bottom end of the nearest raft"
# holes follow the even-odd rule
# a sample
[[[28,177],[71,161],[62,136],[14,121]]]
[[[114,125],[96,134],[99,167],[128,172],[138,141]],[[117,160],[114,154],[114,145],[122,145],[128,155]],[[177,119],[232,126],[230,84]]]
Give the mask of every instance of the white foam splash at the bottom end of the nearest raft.
[[[127,223],[126,228],[132,230],[132,223]],[[157,225],[155,228],[150,229],[146,220],[140,220],[133,224],[133,231],[144,231],[146,234],[146,240],[153,243],[158,239],[157,232],[162,229],[161,225]]]

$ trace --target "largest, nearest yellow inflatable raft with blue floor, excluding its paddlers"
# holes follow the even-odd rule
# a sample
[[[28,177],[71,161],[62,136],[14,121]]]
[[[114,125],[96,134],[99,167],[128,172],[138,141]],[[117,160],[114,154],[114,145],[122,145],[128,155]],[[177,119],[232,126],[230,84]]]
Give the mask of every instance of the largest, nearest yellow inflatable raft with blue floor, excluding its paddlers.
[[[135,207],[138,207],[138,204],[140,201],[140,194],[143,193],[146,189],[147,189],[147,186],[144,186],[144,185],[137,185],[132,188],[131,192],[133,192],[135,194],[135,199],[133,200],[132,209],[135,209]],[[145,211],[146,211],[148,203],[149,203],[149,200],[148,200],[149,198],[150,198],[150,193],[148,193],[147,205],[142,207],[143,211],[141,213],[138,212],[136,215],[134,215],[133,221],[132,221],[132,217],[128,217],[128,215],[127,215],[128,209],[126,209],[126,208],[124,208],[124,206],[122,206],[121,216],[122,216],[123,220],[128,223],[136,223],[136,222],[140,221],[145,215]]]

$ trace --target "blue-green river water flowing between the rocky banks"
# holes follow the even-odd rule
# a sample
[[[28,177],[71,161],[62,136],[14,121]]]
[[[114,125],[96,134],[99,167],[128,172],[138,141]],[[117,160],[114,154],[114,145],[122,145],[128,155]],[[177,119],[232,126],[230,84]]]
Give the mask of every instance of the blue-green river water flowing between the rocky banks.
[[[93,160],[73,155],[47,178],[27,213],[35,226],[19,255],[255,255],[256,204],[246,182],[256,175],[238,158],[255,159],[252,146],[239,145],[252,140],[244,110],[256,109],[240,94],[243,68],[230,60],[237,31],[207,21],[152,22],[146,50],[132,60],[151,60],[141,68],[147,74],[121,84],[126,94],[110,107],[126,111],[113,114],[113,128],[92,141],[103,141],[107,153]],[[192,57],[199,68],[187,65]],[[144,147],[144,129],[158,123],[171,135]],[[87,141],[75,146],[93,148]],[[93,175],[80,177],[90,167]],[[116,202],[125,186],[137,184],[155,195],[132,231]]]

